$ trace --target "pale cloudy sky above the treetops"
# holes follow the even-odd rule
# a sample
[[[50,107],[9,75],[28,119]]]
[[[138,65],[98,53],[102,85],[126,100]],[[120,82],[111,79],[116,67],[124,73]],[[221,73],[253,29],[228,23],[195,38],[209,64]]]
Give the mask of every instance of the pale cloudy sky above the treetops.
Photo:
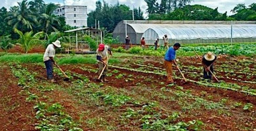
[[[11,6],[16,6],[17,2],[22,0],[0,0],[3,2],[0,2],[0,7],[6,7],[9,9]],[[65,5],[85,5],[88,8],[88,12],[91,10],[94,10],[96,8],[96,1],[97,0],[44,0],[46,3],[53,2],[53,3],[59,3],[63,5],[65,2]],[[117,0],[105,0],[109,4],[116,4]],[[147,9],[147,4],[144,2],[144,0],[118,0],[120,4],[126,4],[129,7],[138,8],[140,7],[144,12]],[[158,0],[160,3],[160,0]],[[245,3],[246,6],[252,4],[253,2],[256,2],[255,0],[194,0],[194,2],[191,3],[191,5],[200,4],[204,5],[210,8],[217,8],[219,12],[224,13],[227,11],[228,15],[232,15],[232,12],[230,12],[231,9],[233,9],[237,4],[239,3]],[[144,14],[146,16],[146,14]]]

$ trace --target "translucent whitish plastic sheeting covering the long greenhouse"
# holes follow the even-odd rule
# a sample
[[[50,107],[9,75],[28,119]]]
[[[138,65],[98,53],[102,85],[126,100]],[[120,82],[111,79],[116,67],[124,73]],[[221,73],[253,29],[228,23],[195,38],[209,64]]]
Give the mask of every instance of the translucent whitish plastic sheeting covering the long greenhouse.
[[[220,39],[231,37],[231,25],[224,24],[128,24],[147,39]],[[256,38],[256,24],[235,24],[233,38]]]

